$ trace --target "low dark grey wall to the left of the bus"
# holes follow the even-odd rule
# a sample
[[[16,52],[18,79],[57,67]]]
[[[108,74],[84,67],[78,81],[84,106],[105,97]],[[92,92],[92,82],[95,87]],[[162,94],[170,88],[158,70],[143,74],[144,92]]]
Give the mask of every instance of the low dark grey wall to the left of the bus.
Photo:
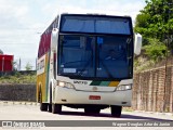
[[[1,101],[36,101],[36,84],[0,84]]]

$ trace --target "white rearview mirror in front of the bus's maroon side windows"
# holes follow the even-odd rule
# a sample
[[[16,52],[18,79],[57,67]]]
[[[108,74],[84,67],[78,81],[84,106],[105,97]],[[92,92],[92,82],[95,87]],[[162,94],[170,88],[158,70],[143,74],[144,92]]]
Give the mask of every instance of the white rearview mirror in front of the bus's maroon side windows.
[[[51,50],[53,52],[56,52],[57,35],[58,35],[58,29],[57,28],[53,28],[52,35],[51,35]]]

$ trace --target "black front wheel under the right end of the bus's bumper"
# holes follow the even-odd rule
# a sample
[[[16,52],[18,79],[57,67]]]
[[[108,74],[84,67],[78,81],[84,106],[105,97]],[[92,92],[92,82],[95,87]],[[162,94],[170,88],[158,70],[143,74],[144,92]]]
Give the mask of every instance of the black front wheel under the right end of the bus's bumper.
[[[120,117],[121,116],[122,106],[111,105],[111,116]]]

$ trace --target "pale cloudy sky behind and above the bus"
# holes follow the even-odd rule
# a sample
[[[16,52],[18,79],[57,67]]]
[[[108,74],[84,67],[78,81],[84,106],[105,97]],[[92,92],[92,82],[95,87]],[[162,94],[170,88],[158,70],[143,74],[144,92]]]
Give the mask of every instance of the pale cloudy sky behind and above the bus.
[[[0,0],[0,50],[25,69],[36,68],[41,34],[61,12],[130,15],[133,23],[145,0]]]

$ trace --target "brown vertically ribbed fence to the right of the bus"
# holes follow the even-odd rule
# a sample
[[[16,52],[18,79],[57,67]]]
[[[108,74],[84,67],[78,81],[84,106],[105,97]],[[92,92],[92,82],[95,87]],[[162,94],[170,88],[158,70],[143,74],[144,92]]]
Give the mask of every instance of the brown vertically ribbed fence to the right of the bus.
[[[135,74],[132,107],[173,113],[173,66]]]

